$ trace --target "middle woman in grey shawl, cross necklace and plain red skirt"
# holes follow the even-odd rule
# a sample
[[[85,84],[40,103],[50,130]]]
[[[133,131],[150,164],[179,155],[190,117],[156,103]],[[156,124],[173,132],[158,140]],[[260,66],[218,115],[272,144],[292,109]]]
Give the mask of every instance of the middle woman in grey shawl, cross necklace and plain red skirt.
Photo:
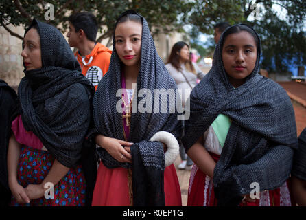
[[[182,124],[169,100],[157,102],[159,109],[167,107],[166,113],[153,112],[153,99],[146,102],[147,111],[139,110],[144,95],[137,93],[145,90],[148,98],[154,89],[176,91],[176,83],[156,52],[148,23],[129,10],[117,19],[110,67],[93,99],[95,142],[102,160],[93,206],[181,206],[172,163]]]

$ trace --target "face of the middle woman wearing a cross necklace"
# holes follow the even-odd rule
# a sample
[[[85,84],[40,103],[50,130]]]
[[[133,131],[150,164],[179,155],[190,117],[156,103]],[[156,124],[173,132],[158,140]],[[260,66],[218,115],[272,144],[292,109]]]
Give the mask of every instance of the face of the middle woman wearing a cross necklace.
[[[115,30],[115,48],[126,66],[139,65],[142,25],[135,21],[119,23]]]

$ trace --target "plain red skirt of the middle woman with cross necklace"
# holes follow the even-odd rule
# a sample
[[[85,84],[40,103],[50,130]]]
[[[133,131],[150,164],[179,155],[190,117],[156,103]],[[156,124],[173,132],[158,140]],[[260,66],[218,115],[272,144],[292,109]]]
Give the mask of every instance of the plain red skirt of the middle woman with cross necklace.
[[[128,170],[108,169],[101,162],[93,191],[92,206],[130,206]],[[167,166],[164,173],[165,206],[182,206],[180,184],[174,165]]]

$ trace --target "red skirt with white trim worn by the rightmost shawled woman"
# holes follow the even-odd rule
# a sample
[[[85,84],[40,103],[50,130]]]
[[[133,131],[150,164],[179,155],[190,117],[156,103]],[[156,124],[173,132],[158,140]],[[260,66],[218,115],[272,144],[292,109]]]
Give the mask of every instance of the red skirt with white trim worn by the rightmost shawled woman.
[[[220,155],[210,153],[218,161]],[[292,206],[290,181],[275,190],[260,192],[260,199],[255,202],[240,203],[239,206]],[[217,199],[213,190],[213,180],[196,165],[193,165],[189,179],[187,206],[217,206]]]

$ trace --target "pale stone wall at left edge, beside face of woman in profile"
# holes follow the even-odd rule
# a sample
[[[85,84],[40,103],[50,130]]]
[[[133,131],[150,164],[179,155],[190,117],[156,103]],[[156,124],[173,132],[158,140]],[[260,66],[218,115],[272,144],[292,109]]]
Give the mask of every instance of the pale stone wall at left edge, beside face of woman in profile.
[[[8,25],[8,28],[21,36],[25,32],[22,26]],[[11,36],[7,30],[0,27],[0,78],[12,87],[18,86],[24,76],[21,51],[21,39]]]

